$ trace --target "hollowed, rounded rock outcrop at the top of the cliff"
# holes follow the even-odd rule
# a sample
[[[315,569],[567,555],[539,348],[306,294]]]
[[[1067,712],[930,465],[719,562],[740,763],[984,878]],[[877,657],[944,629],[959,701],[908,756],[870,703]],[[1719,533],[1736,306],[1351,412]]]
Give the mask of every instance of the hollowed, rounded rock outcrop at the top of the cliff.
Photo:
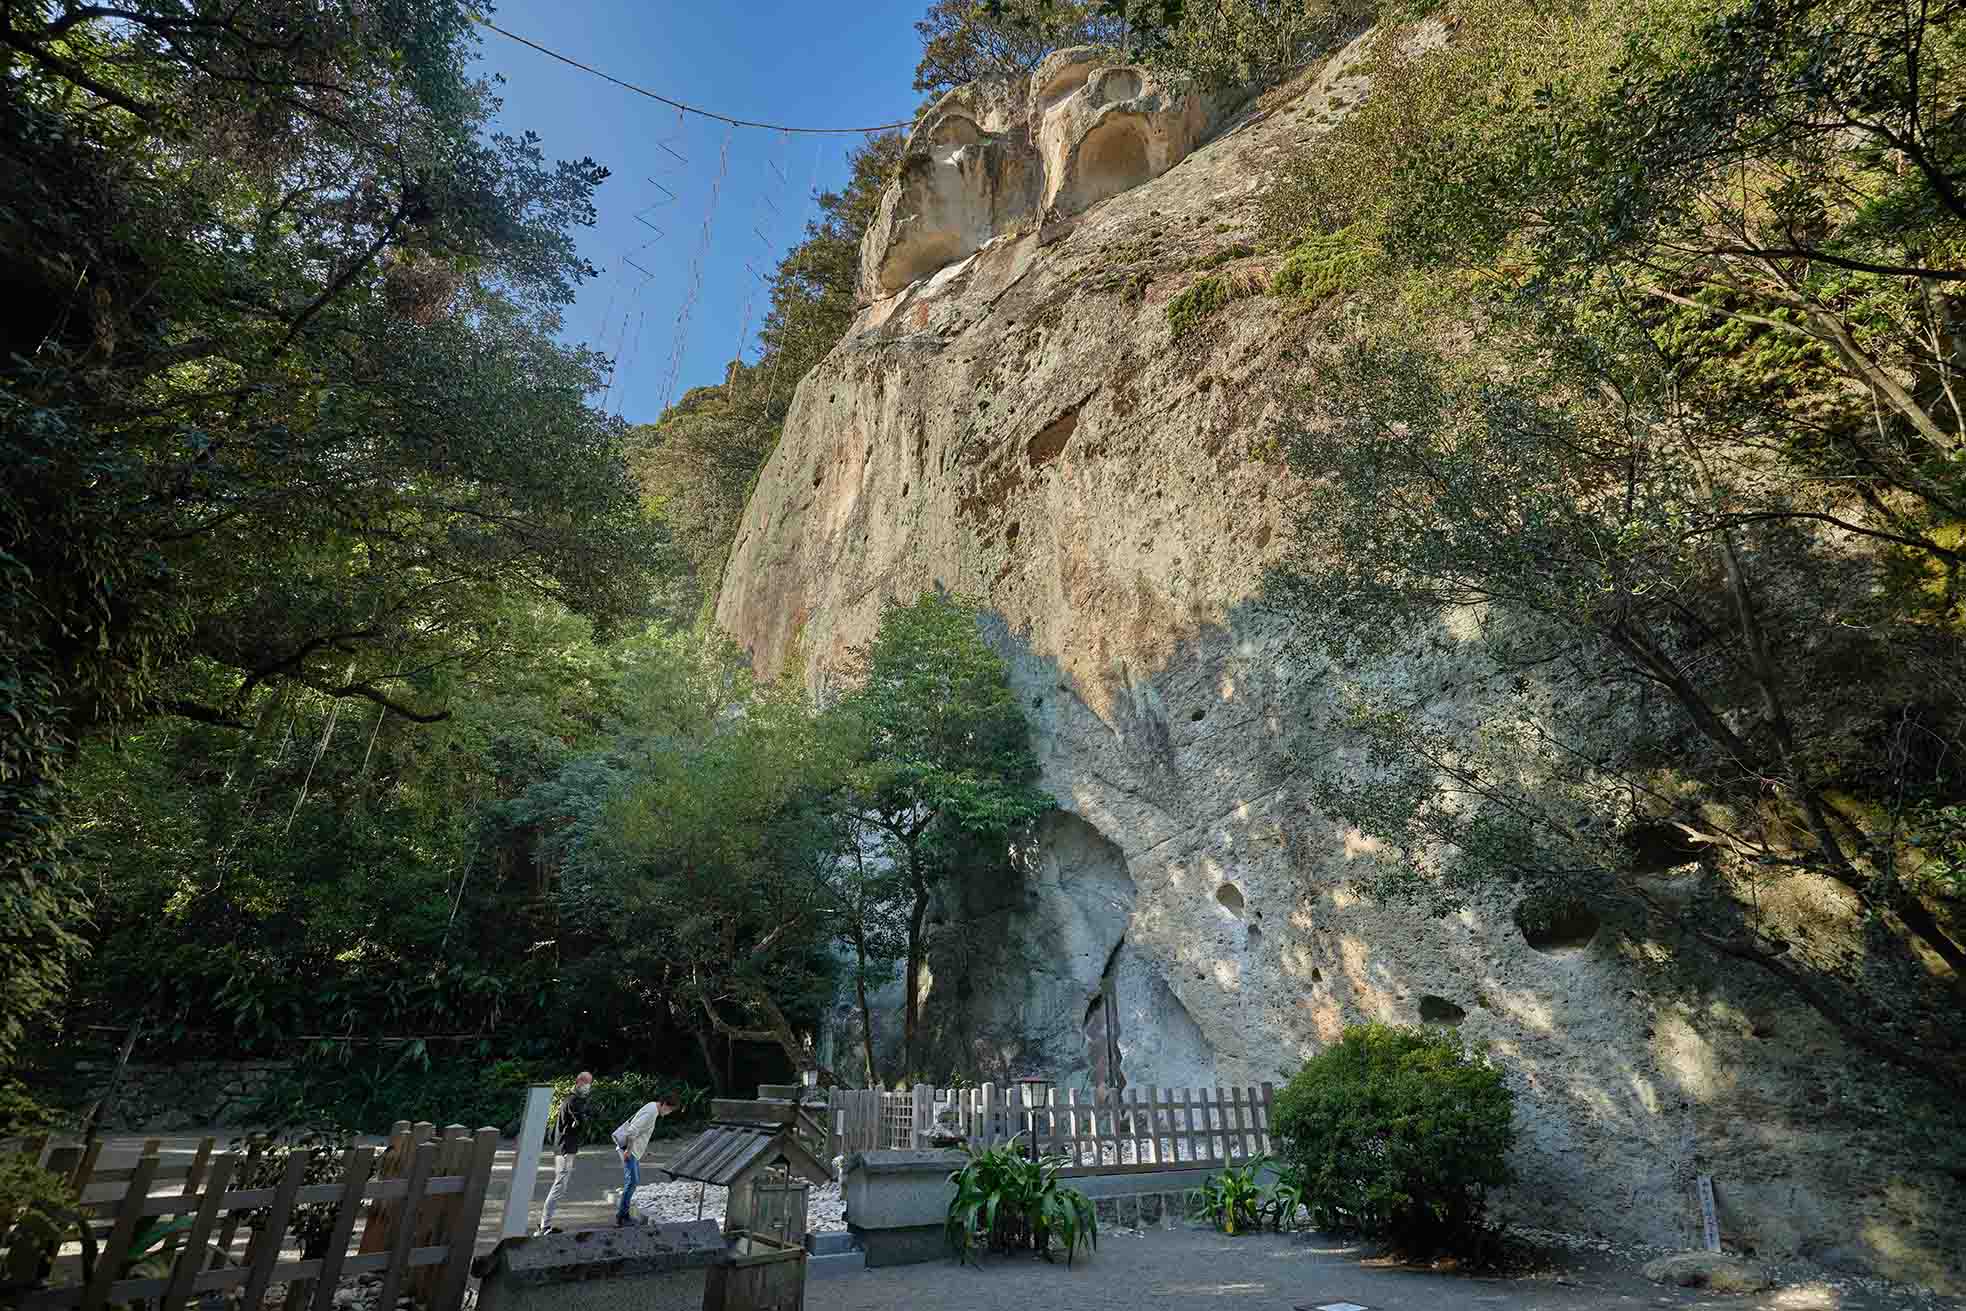
[[[908,136],[861,244],[861,295],[889,297],[993,238],[1160,177],[1219,122],[1111,51],[1048,55],[1020,81],[957,86]]]

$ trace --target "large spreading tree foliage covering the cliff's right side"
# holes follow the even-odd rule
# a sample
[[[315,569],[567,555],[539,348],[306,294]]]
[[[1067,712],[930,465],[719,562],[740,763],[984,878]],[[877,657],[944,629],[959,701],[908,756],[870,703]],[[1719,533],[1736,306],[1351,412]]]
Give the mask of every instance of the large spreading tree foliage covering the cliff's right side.
[[[1386,892],[1636,900],[1958,1087],[1944,1024],[1883,1002],[1931,987],[1921,957],[1966,971],[1919,849],[1966,782],[1960,248],[1925,145],[1952,110],[1913,90],[1954,39],[1881,0],[1659,6],[1581,43],[1500,8],[1492,43],[1400,53],[1427,94],[1300,175],[1337,183],[1309,230],[1364,230],[1408,299],[1335,328],[1286,432],[1313,482],[1276,596],[1333,660],[1435,643],[1510,696],[1469,725],[1359,690],[1368,769],[1321,800],[1388,843]],[[1421,324],[1443,303],[1478,346]],[[1708,898],[1661,904],[1636,847]],[[1791,871],[1876,949],[1769,924],[1754,884]]]

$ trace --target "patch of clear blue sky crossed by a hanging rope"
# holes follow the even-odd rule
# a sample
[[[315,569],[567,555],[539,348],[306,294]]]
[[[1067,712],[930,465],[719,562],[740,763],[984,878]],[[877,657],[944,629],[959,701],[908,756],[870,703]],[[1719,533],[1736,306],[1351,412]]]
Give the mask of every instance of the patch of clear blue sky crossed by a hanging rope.
[[[914,22],[926,8],[928,0],[501,0],[490,18],[674,100],[735,118],[832,128],[914,112]],[[592,155],[613,171],[600,191],[600,222],[580,236],[582,254],[604,271],[566,314],[570,340],[617,358],[609,413],[633,423],[661,413],[698,252],[700,283],[682,332],[674,395],[722,381],[739,346],[755,360],[767,299],[753,269],[769,273],[798,240],[814,214],[814,187],[841,185],[845,153],[859,138],[786,140],[755,128],[727,132],[696,116],[678,122],[655,100],[492,31],[480,55],[488,75],[505,77],[501,128],[537,132],[552,159]],[[725,142],[729,153],[716,187]],[[637,222],[637,212],[663,236]],[[629,267],[625,254],[653,277]]]

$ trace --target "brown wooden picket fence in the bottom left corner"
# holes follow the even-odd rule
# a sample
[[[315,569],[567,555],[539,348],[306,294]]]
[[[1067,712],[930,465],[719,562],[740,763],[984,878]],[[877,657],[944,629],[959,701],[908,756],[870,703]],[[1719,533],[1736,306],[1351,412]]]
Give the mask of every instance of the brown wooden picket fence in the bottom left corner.
[[[33,1140],[20,1144],[16,1150],[33,1152],[71,1181],[98,1246],[87,1282],[29,1289],[14,1305],[20,1311],[102,1311],[149,1301],[157,1311],[181,1311],[206,1293],[242,1287],[240,1307],[258,1311],[267,1289],[281,1283],[287,1289],[285,1311],[332,1311],[340,1280],[366,1272],[381,1272],[376,1305],[387,1311],[395,1309],[401,1293],[425,1311],[458,1311],[464,1305],[478,1219],[497,1152],[495,1128],[472,1134],[452,1124],[438,1132],[429,1122],[397,1122],[379,1154],[368,1146],[348,1148],[338,1181],[305,1183],[311,1154],[295,1150],[273,1187],[230,1187],[250,1177],[263,1146],[218,1156],[212,1146],[214,1140],[206,1138],[191,1166],[163,1166],[159,1140],[151,1138],[144,1142],[136,1166],[98,1169],[100,1142],[87,1152],[75,1146],[49,1152],[45,1142]],[[157,1185],[179,1179],[179,1189],[157,1191]],[[295,1209],[322,1203],[334,1207],[326,1248],[307,1258],[299,1238],[289,1236]],[[261,1219],[254,1221],[254,1213]],[[145,1223],[165,1217],[189,1219],[189,1226],[161,1248],[169,1270],[151,1278],[118,1278]],[[354,1254],[348,1250],[352,1240]],[[8,1282],[18,1287],[45,1256],[45,1248],[16,1236]],[[79,1262],[65,1258],[55,1270],[57,1278],[63,1270],[79,1274]]]

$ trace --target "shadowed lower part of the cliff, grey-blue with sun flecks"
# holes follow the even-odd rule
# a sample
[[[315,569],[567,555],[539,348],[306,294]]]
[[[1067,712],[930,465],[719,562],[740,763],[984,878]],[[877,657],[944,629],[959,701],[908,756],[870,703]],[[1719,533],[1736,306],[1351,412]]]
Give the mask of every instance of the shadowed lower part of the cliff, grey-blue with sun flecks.
[[[1966,1209],[1952,1120],[1767,977],[1710,955],[1683,967],[1687,941],[1618,906],[1537,938],[1506,888],[1441,918],[1359,896],[1351,869],[1370,845],[1315,814],[1305,780],[1360,757],[1333,727],[1325,670],[1290,653],[1288,629],[1258,601],[1217,623],[1162,623],[1152,643],[1136,627],[1127,645],[1158,647],[1152,668],[1068,670],[1003,613],[983,621],[1024,698],[1046,784],[1123,853],[1136,884],[1113,957],[1125,945],[1158,975],[1174,1022],[1201,1036],[1187,1063],[1207,1069],[1182,1069],[1156,1046],[1172,1012],[1121,1012],[1111,991],[1081,998],[1075,1034],[1056,1014],[1042,1034],[1020,1034],[1022,1018],[1040,1018],[1020,1014],[965,1028],[967,1004],[932,1000],[944,1052],[1064,1073],[1064,1042],[1079,1057],[1070,1067],[1091,1075],[1105,1073],[1105,1046],[1119,1077],[1180,1087],[1286,1079],[1353,1022],[1455,1026],[1518,1093],[1510,1215],[1697,1246],[1695,1175],[1712,1173],[1730,1248],[1966,1283],[1944,1240]],[[1425,700],[1447,696],[1453,668],[1419,660],[1404,676]],[[1048,965],[1026,951],[987,969],[1003,979]],[[987,987],[1001,983],[950,959],[934,991],[969,1000]]]

